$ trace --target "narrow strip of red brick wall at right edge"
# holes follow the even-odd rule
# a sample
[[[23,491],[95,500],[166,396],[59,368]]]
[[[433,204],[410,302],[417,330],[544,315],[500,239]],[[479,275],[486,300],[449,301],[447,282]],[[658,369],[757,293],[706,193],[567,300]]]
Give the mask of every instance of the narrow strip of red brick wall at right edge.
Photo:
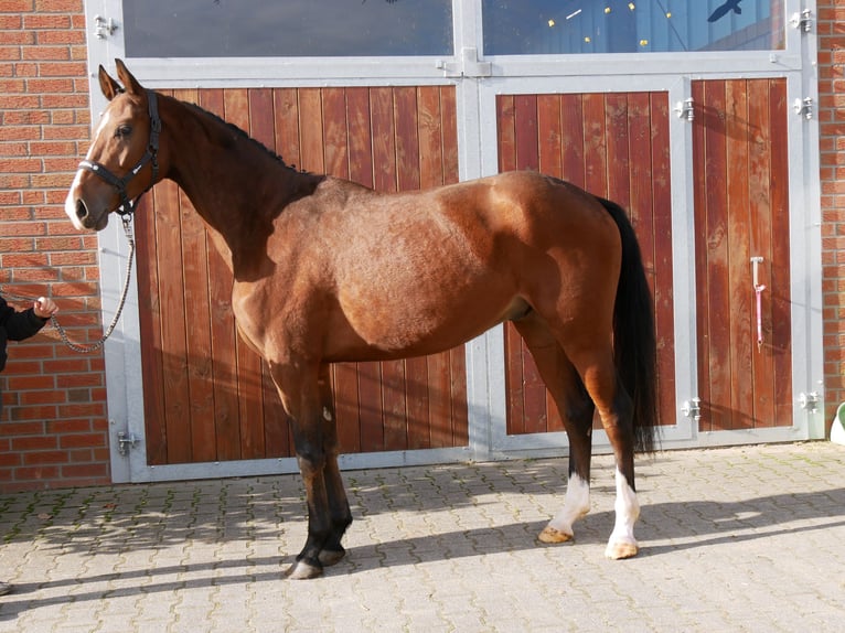
[[[819,0],[825,420],[845,401],[845,0]]]

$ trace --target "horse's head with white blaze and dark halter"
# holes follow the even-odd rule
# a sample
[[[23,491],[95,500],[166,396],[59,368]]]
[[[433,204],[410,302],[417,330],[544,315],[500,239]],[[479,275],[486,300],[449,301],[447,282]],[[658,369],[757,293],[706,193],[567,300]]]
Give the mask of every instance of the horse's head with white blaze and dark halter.
[[[65,213],[78,229],[100,230],[113,211],[130,213],[132,201],[159,180],[158,99],[120,60],[116,63],[124,87],[99,67],[109,104],[65,200]]]

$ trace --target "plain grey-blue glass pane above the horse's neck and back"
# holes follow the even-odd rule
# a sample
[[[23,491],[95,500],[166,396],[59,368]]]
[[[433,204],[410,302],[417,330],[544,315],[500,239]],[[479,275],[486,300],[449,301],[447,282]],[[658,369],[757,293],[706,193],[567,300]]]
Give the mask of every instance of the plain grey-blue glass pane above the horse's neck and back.
[[[124,0],[129,57],[451,55],[451,0]]]

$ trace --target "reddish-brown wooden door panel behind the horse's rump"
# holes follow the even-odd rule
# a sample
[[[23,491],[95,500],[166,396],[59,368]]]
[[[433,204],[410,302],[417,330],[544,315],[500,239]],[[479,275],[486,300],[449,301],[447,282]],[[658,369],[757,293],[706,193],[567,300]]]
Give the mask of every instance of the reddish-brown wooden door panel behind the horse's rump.
[[[665,92],[504,95],[496,98],[499,168],[531,169],[613,200],[630,214],[654,294],[659,401],[675,406],[672,200]],[[563,430],[522,339],[505,328],[507,434]]]

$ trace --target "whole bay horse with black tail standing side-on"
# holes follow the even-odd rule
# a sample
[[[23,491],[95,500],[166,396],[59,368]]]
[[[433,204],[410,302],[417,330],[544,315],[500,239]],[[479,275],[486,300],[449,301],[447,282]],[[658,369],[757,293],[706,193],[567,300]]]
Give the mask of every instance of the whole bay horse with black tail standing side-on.
[[[563,508],[539,540],[573,539],[590,509],[598,410],[617,466],[606,556],[637,555],[634,451],[654,448],[656,344],[640,248],[617,204],[526,171],[394,194],[304,173],[116,64],[117,79],[99,67],[109,104],[65,211],[78,229],[100,230],[171,179],[202,216],[233,271],[239,334],[266,361],[292,425],[308,536],[286,576],[338,562],[352,523],[330,364],[440,352],[504,321],[569,437]]]

